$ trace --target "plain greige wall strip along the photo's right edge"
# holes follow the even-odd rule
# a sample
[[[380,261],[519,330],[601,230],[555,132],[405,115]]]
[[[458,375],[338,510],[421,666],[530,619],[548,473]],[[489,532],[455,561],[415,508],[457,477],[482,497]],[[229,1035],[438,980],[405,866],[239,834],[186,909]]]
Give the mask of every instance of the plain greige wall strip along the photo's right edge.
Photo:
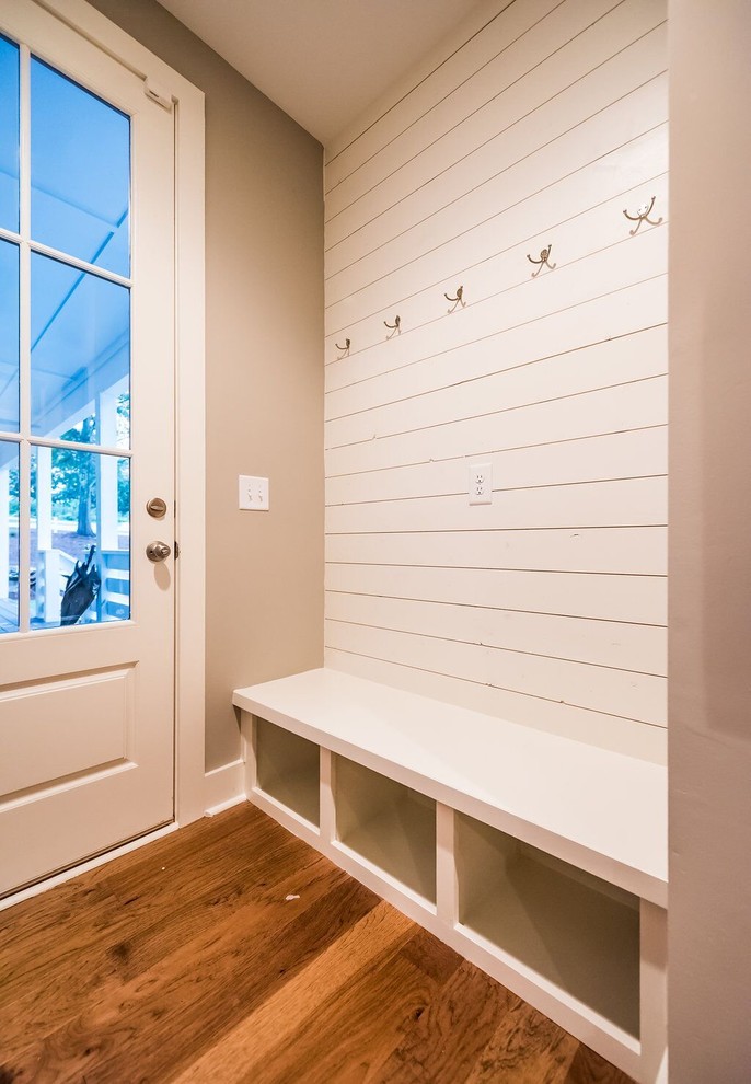
[[[671,0],[671,1084],[751,1080],[750,50]]]

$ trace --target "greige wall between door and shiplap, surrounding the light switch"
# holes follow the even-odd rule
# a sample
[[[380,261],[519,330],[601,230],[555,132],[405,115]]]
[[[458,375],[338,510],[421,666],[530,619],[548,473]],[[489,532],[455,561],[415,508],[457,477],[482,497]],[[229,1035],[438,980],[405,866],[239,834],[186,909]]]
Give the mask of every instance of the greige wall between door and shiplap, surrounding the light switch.
[[[322,662],[322,148],[155,0],[93,5],[206,94],[206,768],[238,685]],[[270,511],[238,511],[238,474]]]

